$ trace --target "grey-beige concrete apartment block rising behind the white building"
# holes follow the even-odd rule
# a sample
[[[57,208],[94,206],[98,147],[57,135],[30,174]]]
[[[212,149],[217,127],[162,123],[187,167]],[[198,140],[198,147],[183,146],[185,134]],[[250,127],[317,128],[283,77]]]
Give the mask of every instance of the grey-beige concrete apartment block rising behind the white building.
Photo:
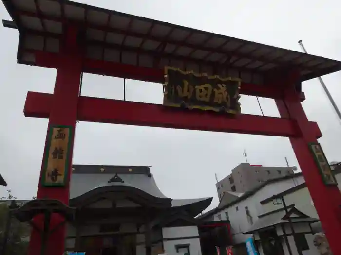
[[[224,192],[244,193],[259,186],[266,180],[294,173],[295,167],[263,167],[242,163],[231,170],[223,180],[216,184],[219,200]]]

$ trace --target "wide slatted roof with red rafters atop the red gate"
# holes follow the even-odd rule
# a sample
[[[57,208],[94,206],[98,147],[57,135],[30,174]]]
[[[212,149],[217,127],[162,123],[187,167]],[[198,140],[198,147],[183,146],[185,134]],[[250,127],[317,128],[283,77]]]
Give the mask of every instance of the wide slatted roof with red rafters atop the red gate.
[[[262,84],[265,74],[299,68],[301,81],[341,70],[341,62],[225,35],[137,17],[68,0],[2,0],[20,32],[18,63],[36,65],[35,52],[59,52],[63,24],[84,28],[86,57],[133,66],[170,65]],[[84,70],[93,72],[91,68]],[[126,77],[128,78],[128,77]]]

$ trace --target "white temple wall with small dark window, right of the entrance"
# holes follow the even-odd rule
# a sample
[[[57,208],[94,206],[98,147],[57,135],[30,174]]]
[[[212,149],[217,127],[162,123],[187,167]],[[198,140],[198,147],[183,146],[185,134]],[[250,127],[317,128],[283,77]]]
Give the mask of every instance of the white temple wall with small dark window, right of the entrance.
[[[169,227],[162,229],[164,239],[167,238],[185,238],[199,236],[197,226],[186,227]],[[199,238],[179,239],[179,240],[164,240],[165,253],[169,255],[176,255],[175,245],[189,244],[190,255],[201,255],[201,246]]]

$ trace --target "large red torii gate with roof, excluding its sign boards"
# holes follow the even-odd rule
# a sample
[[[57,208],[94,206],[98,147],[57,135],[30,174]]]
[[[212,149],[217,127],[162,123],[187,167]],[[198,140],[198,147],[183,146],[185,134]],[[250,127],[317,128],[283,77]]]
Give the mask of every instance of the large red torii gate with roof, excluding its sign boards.
[[[301,105],[301,82],[341,70],[341,63],[232,37],[122,14],[67,0],[2,0],[19,30],[18,63],[56,68],[54,94],[28,92],[27,117],[49,118],[45,151],[56,127],[68,130],[65,172],[60,187],[47,182],[49,153],[43,156],[38,198],[69,203],[69,178],[76,121],[207,130],[289,137],[334,254],[341,254],[341,194],[323,182],[311,143],[322,134]],[[163,67],[242,79],[241,94],[275,99],[281,118],[177,110],[163,105],[80,96],[81,73],[163,83]],[[59,136],[58,136],[59,137]],[[318,147],[314,147],[318,150]],[[315,153],[319,153],[315,151]],[[320,155],[321,156],[321,155]],[[322,154],[322,156],[324,156]],[[325,157],[324,157],[324,160]],[[330,173],[330,172],[329,172]],[[46,175],[47,174],[47,175]],[[323,175],[328,175],[328,171]],[[56,175],[58,177],[58,174]],[[50,186],[49,186],[50,185]],[[42,219],[35,220],[42,225]],[[50,227],[62,219],[54,215]],[[50,255],[64,252],[65,227],[49,235]],[[57,244],[57,245],[56,245]],[[29,255],[41,247],[33,229]]]

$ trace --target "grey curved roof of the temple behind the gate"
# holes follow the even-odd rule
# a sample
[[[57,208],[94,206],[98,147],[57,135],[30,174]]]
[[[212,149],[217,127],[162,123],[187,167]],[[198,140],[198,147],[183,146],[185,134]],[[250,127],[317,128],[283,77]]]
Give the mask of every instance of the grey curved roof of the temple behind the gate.
[[[170,199],[157,187],[150,167],[73,165],[70,180],[70,200],[80,200],[98,192],[133,191],[145,194],[160,203],[169,202],[173,208],[184,208],[193,215],[199,214],[211,203],[212,198]]]

